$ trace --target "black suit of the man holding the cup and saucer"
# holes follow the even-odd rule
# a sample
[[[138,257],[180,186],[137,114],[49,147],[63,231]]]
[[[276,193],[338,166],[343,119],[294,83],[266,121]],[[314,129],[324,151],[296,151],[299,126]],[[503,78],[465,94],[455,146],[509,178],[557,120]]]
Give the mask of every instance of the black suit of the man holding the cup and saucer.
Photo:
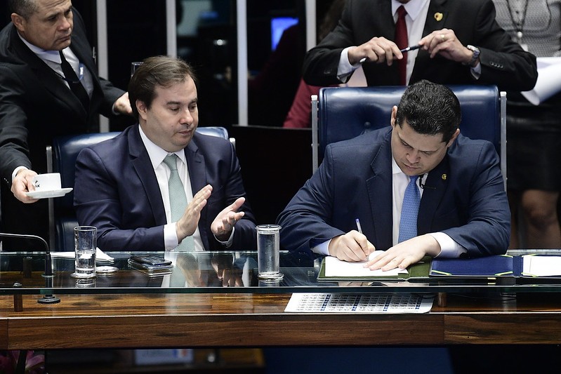
[[[98,131],[98,113],[110,116],[124,91],[98,78],[86,27],[74,11],[70,48],[93,79],[90,108],[84,107],[48,67],[21,41],[9,24],[0,32],[0,177],[2,221],[8,232],[47,234],[46,202],[20,203],[10,192],[11,174],[18,166],[46,172],[45,147],[57,135]],[[62,186],[67,187],[67,186]],[[29,220],[37,222],[30,227]]]

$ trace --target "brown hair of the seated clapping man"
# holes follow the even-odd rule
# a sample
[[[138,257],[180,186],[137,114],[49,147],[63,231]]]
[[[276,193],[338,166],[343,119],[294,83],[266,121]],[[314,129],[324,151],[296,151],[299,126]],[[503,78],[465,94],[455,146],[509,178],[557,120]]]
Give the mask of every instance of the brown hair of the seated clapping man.
[[[180,58],[169,56],[154,56],[143,60],[142,65],[136,69],[131,81],[128,82],[128,100],[131,102],[133,114],[138,120],[136,100],[144,102],[150,108],[156,98],[156,87],[171,87],[174,84],[185,82],[191,77],[196,83],[192,67]]]

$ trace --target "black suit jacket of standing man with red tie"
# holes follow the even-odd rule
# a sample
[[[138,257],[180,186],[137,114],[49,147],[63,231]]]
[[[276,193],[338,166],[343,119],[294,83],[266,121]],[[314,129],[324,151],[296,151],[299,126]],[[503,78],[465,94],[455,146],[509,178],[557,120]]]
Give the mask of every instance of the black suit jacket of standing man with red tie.
[[[442,13],[442,20],[435,19]],[[495,22],[491,0],[430,0],[423,36],[439,29],[452,29],[464,46],[480,48],[481,76],[475,81],[470,68],[440,55],[431,59],[418,50],[410,84],[428,79],[439,84],[496,84],[501,90],[528,91],[537,79],[536,58],[510,40]],[[390,0],[348,0],[341,21],[304,60],[303,76],[308,84],[339,84],[337,67],[341,51],[359,46],[374,36],[395,39],[395,22]],[[409,41],[416,44],[416,41]],[[397,64],[365,62],[362,66],[368,86],[398,86]]]

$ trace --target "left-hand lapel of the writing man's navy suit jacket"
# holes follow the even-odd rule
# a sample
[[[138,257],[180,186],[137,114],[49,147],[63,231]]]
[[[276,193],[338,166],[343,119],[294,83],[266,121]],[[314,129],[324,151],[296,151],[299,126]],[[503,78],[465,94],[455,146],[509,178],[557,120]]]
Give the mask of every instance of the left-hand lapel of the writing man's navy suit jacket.
[[[367,179],[367,191],[372,219],[374,220],[374,246],[387,249],[392,246],[392,164],[390,148],[391,131],[372,160],[374,176]]]

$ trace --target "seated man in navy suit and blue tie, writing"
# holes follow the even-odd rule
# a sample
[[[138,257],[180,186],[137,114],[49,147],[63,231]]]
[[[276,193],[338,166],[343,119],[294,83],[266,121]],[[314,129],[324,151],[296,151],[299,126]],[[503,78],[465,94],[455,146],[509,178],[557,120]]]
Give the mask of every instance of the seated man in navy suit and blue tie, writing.
[[[281,245],[346,261],[385,250],[368,264],[385,270],[425,255],[505,253],[510,211],[499,156],[490,142],[463,137],[460,120],[449,88],[409,86],[391,126],[326,147],[279,215]]]

